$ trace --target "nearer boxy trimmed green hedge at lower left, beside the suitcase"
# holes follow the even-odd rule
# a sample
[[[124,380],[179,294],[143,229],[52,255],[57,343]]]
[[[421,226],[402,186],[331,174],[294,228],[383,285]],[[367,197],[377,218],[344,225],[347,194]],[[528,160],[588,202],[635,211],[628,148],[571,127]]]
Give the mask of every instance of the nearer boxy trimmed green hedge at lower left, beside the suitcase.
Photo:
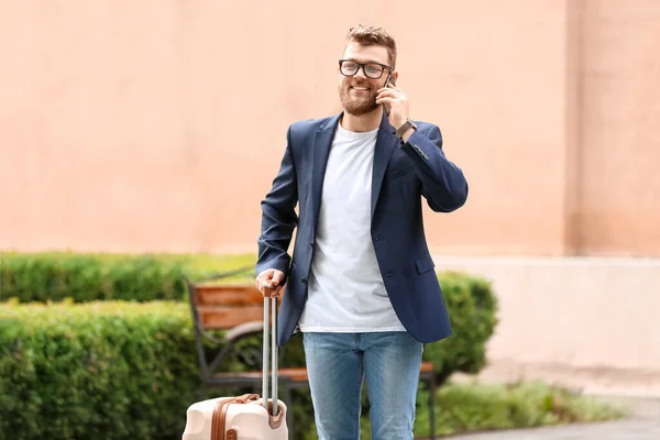
[[[195,399],[184,304],[0,306],[0,439],[180,438]]]

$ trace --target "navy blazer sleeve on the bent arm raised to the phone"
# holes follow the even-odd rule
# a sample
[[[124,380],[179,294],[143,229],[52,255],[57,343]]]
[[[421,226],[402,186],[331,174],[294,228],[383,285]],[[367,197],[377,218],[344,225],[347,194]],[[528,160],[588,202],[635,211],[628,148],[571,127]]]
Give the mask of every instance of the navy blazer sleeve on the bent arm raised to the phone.
[[[468,180],[461,168],[442,151],[440,129],[430,125],[427,134],[415,130],[402,151],[413,160],[421,180],[421,194],[436,212],[451,212],[468,200]]]

